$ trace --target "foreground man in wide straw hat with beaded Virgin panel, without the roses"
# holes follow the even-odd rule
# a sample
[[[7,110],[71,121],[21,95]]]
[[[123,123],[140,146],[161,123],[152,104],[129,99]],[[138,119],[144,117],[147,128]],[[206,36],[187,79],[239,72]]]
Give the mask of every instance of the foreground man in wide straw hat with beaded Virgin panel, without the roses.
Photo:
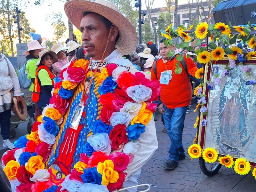
[[[92,123],[98,119],[100,114],[99,94],[97,93],[99,84],[95,83],[93,75],[97,76],[101,69],[110,63],[124,67],[133,74],[138,71],[129,60],[122,57],[122,55],[128,55],[135,50],[137,34],[132,24],[113,4],[104,0],[95,2],[71,0],[64,5],[64,9],[68,19],[82,32],[83,48],[91,57],[88,67],[89,76],[87,76],[85,84],[79,84],[74,92],[70,103],[71,111],[68,111],[63,117],[67,123],[60,126],[58,139],[52,146],[52,152],[46,162],[49,172],[53,174],[60,172],[67,176],[74,164],[79,161],[79,154],[85,147],[86,136],[92,129]],[[144,73],[144,75],[150,78],[149,74]],[[73,121],[72,117],[75,114],[77,103],[81,98],[83,99],[83,95],[80,93],[85,89],[85,85],[89,86],[89,88],[86,87],[86,94],[89,95],[91,102],[87,103],[86,100],[86,105],[83,108],[85,115],[81,117],[79,126],[75,130],[69,125]],[[145,132],[140,135],[139,139],[134,140],[134,144],[137,145],[134,148],[136,152],[133,153],[132,161],[124,171],[127,175],[123,188],[138,185],[140,168],[151,158],[158,147],[153,119],[146,125]],[[56,180],[55,177],[53,179]],[[136,188],[132,188],[126,191],[136,190]]]

